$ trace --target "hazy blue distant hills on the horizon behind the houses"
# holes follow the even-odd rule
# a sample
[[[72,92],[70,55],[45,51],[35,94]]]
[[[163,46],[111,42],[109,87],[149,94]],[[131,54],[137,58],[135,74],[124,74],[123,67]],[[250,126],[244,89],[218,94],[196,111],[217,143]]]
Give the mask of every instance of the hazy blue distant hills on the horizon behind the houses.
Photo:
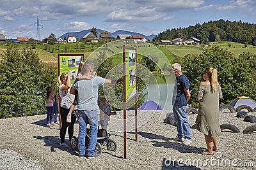
[[[97,32],[98,32],[98,38],[100,36],[100,31],[104,31],[102,29],[97,29]],[[76,38],[79,38],[79,39],[82,39],[83,36],[85,36],[88,32],[91,32],[91,29],[86,29],[86,30],[83,30],[83,31],[79,31],[79,32],[67,32],[63,35],[60,36],[60,38],[64,39],[65,37],[68,38],[68,36],[70,34],[72,34],[73,36],[75,36]],[[109,31],[108,31],[109,32]],[[124,30],[118,30],[118,31],[115,31],[115,32],[109,32],[109,34],[111,34],[111,36],[113,38],[116,38],[118,36],[118,34],[131,34],[131,36],[143,36],[144,38],[148,38],[150,41],[152,41],[152,39],[154,37],[156,37],[156,35],[152,34],[152,35],[149,35],[149,36],[145,36],[144,34],[140,34],[138,32],[131,32],[131,31],[124,31]]]

